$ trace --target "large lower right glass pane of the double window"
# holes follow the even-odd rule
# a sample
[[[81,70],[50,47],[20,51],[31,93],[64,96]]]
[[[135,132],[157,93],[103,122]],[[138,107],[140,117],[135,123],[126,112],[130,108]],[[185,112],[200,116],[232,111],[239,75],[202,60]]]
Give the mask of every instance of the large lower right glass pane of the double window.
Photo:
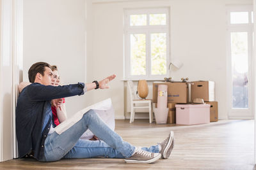
[[[166,33],[151,34],[151,74],[166,74]]]

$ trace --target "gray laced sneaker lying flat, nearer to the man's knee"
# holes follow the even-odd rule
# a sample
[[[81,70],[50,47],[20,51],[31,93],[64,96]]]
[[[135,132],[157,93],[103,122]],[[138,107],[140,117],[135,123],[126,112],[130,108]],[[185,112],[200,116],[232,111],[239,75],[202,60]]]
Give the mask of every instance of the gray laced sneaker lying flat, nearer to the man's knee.
[[[141,148],[136,148],[135,153],[125,159],[126,163],[139,163],[139,164],[150,164],[160,159],[161,153],[151,153],[145,150],[141,150]]]

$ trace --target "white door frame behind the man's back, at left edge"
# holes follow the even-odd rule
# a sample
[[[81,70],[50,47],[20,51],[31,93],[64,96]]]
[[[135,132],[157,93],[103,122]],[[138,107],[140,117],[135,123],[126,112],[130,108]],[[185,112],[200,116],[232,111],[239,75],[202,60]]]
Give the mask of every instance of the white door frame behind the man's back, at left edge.
[[[0,26],[0,41],[1,41],[1,56],[0,56],[0,94],[3,94],[3,44],[10,45],[10,55],[6,55],[10,60],[12,70],[10,93],[11,113],[3,111],[3,96],[0,97],[0,162],[18,157],[17,139],[15,132],[15,108],[17,97],[19,96],[19,82],[22,81],[23,67],[23,0],[0,0],[1,26]],[[6,34],[3,29],[8,27],[10,37],[3,39],[3,34]],[[4,115],[11,114],[11,117]],[[6,120],[7,118],[7,120]],[[4,127],[3,122],[10,122],[10,127]],[[10,134],[3,133],[10,131]],[[7,138],[6,138],[7,137]],[[4,143],[11,143],[11,146],[4,148]],[[3,156],[4,155],[4,156]]]

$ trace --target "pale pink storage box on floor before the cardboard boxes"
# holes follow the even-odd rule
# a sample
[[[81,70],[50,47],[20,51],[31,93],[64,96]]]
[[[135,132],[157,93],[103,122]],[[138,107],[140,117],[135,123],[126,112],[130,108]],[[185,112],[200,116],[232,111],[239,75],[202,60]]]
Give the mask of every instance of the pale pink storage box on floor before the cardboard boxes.
[[[211,104],[176,104],[176,124],[210,123],[210,106]]]

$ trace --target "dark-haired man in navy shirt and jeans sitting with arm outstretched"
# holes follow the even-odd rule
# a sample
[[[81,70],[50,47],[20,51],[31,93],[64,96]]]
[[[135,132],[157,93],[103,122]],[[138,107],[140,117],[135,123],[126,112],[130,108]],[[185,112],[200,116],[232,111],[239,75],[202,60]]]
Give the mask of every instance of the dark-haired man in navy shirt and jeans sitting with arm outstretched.
[[[115,74],[102,81],[77,83],[73,85],[51,86],[51,66],[45,62],[36,62],[29,71],[31,85],[20,92],[16,108],[16,132],[19,156],[32,155],[39,161],[49,162],[60,159],[111,157],[125,158],[130,163],[151,163],[160,157],[167,159],[173,148],[173,132],[159,145],[150,148],[136,148],[109,129],[89,110],[83,118],[61,134],[52,128],[52,99],[82,95],[93,89],[108,89],[108,82]],[[99,141],[80,140],[87,130],[95,134]],[[150,150],[152,152],[147,152]]]

